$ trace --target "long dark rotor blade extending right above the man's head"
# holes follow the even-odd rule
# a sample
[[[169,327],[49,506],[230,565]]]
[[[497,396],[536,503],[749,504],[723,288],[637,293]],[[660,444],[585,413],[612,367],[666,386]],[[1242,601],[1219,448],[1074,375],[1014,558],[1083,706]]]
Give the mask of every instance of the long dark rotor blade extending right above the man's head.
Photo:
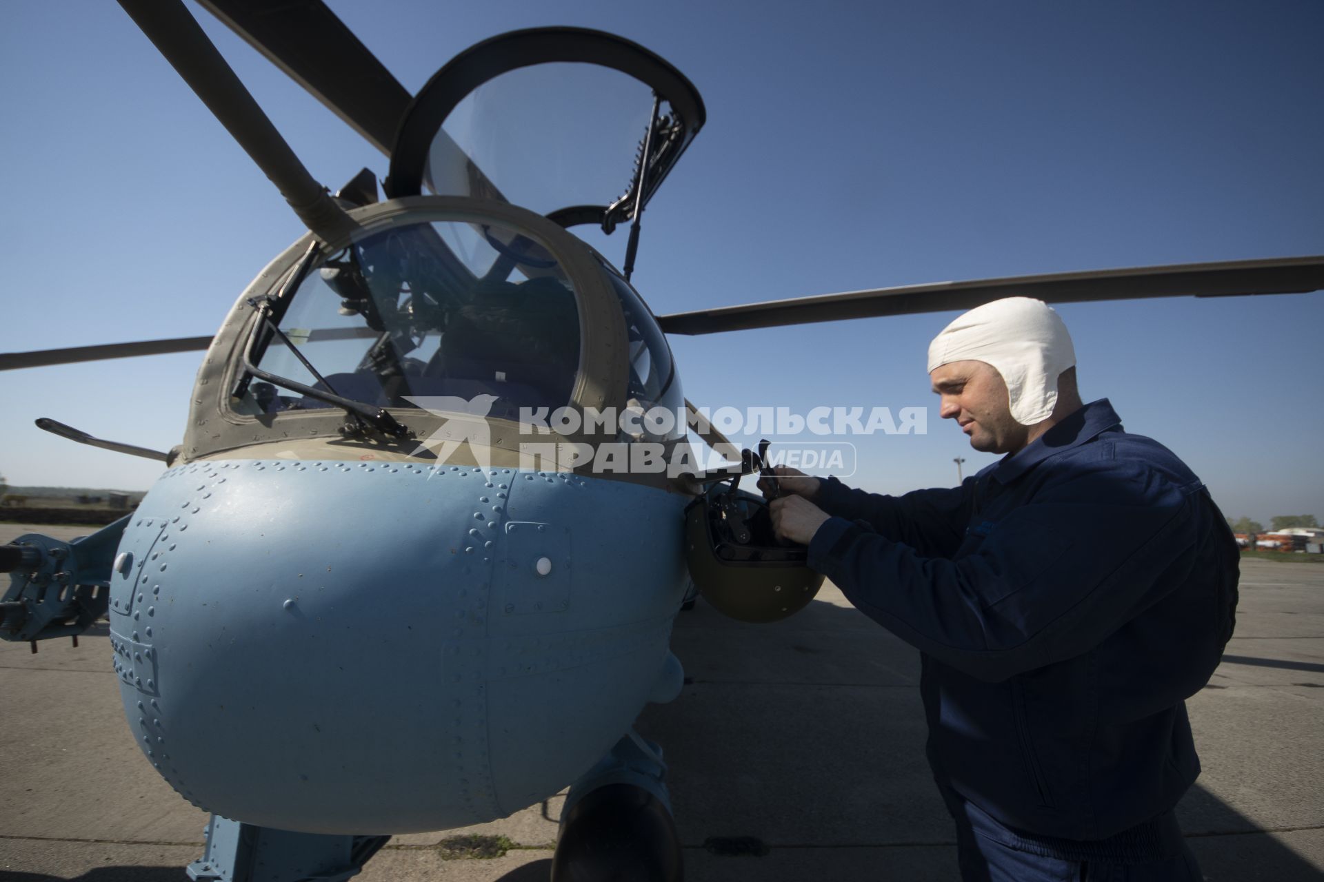
[[[1133,298],[1304,294],[1320,290],[1324,290],[1324,257],[1312,255],[1023,275],[973,282],[933,282],[677,312],[658,316],[658,324],[667,333],[700,335],[842,319],[970,309],[1010,296],[1038,298],[1046,303],[1075,303]]]

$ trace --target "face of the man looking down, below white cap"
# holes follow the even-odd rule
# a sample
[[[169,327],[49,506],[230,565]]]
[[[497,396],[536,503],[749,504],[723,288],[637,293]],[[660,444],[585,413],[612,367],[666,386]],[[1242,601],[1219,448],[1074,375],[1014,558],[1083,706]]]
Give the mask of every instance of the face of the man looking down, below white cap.
[[[982,361],[953,361],[928,374],[941,395],[939,415],[955,419],[970,436],[970,447],[986,454],[1012,454],[1029,440],[1030,427],[1012,417],[1006,383]]]

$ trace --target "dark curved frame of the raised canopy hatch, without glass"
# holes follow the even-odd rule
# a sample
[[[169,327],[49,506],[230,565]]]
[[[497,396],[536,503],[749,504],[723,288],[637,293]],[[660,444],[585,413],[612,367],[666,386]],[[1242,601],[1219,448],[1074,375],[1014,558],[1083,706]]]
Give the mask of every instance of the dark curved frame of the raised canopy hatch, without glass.
[[[679,148],[666,165],[649,172],[642,205],[657,193],[707,119],[703,98],[694,83],[661,56],[602,30],[588,28],[528,28],[498,34],[446,62],[414,95],[391,151],[385,192],[391,197],[422,193],[422,177],[433,139],[450,112],[475,89],[502,74],[534,65],[572,62],[618,70],[649,86],[685,123]],[[629,156],[622,156],[628,161]],[[601,223],[606,205],[575,205],[547,217],[569,227]],[[633,217],[633,208],[626,218]]]

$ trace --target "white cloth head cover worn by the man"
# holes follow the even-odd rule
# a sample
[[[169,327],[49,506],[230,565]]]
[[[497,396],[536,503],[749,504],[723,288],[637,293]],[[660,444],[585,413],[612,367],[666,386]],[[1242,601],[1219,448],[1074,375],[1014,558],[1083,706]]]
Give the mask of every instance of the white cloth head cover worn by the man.
[[[928,344],[929,372],[953,361],[993,365],[1010,393],[1012,417],[1033,426],[1053,414],[1058,374],[1075,366],[1075,346],[1043,300],[1005,298],[970,309]]]

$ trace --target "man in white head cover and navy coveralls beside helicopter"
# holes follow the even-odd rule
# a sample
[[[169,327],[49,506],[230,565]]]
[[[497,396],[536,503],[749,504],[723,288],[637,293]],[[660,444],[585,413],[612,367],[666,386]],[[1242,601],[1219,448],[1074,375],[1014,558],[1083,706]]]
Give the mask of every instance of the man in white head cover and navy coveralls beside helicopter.
[[[1005,456],[890,497],[779,468],[779,536],[920,649],[929,764],[967,881],[1201,879],[1173,816],[1185,698],[1231,636],[1238,551],[1204,484],[1107,399],[1057,312],[1009,298],[929,346],[940,414]],[[771,481],[760,483],[765,489]]]

